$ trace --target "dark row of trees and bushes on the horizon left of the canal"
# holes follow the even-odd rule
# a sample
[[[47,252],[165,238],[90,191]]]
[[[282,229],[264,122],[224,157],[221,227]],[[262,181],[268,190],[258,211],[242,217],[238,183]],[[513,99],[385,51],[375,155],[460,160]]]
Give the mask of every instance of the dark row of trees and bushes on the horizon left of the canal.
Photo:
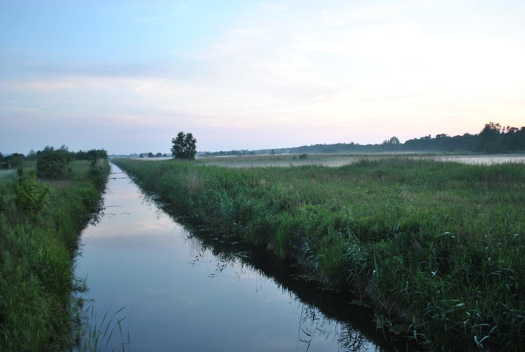
[[[93,160],[93,159],[107,159],[108,158],[108,152],[103,149],[91,149],[89,151],[78,151],[78,152],[71,152],[69,151],[69,148],[66,145],[62,145],[60,148],[55,149],[52,146],[46,146],[43,150],[35,152],[34,150],[31,150],[27,155],[21,154],[21,153],[13,153],[9,155],[3,155],[0,153],[0,167],[2,168],[9,168],[9,167],[19,167],[22,166],[24,161],[26,160],[34,160],[37,161],[38,159],[44,157],[44,156],[50,156],[53,155],[55,157],[61,156],[64,159],[69,160]]]

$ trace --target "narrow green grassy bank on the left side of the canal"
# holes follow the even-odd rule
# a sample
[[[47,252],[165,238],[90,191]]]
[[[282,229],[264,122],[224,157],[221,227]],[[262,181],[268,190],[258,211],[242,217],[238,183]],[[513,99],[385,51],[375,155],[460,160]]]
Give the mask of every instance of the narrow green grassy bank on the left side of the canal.
[[[99,163],[105,180],[109,164]],[[104,187],[88,161],[71,168],[66,180],[37,181],[28,169],[22,183],[16,173],[0,179],[2,351],[71,348],[74,254]]]

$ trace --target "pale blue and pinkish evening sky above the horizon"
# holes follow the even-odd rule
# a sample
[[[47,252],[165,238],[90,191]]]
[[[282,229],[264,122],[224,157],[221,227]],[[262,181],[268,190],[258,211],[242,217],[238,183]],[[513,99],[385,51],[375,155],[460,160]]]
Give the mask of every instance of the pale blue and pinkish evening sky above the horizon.
[[[525,125],[525,2],[0,0],[0,152]]]

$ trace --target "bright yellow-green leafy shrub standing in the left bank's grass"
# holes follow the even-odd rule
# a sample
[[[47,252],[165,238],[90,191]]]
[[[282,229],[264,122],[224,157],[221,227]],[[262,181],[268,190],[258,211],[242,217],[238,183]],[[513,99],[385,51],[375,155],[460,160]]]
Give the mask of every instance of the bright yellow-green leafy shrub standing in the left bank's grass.
[[[30,170],[24,176],[24,170],[18,169],[18,183],[15,188],[15,204],[19,211],[34,218],[46,205],[49,187],[37,183],[36,175]]]

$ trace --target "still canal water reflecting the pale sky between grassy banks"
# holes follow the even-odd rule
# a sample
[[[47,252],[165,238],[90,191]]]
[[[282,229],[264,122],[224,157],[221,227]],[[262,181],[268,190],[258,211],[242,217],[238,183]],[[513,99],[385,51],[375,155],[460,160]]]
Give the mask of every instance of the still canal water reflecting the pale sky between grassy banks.
[[[133,351],[394,350],[352,297],[234,238],[182,225],[111,167],[106,210],[83,232],[77,269],[99,321],[125,307],[125,336],[114,333],[107,350],[128,332]]]

